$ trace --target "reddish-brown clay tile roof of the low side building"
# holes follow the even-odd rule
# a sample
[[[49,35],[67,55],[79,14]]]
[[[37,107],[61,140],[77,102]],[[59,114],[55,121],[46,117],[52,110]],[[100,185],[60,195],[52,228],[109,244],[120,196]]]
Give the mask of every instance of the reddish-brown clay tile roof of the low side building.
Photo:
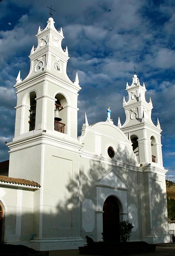
[[[18,185],[25,185],[25,186],[31,186],[31,187],[41,187],[37,182],[24,180],[24,179],[18,179],[18,178],[12,178],[8,176],[0,175],[0,182],[10,183],[10,184],[18,184]]]

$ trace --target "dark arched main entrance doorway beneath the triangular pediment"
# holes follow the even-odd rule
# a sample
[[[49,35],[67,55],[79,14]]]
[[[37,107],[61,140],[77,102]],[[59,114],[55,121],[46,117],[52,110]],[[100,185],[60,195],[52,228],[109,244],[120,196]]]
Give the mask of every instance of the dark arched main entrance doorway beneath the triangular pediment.
[[[115,196],[105,200],[103,211],[103,240],[120,242],[120,210]]]

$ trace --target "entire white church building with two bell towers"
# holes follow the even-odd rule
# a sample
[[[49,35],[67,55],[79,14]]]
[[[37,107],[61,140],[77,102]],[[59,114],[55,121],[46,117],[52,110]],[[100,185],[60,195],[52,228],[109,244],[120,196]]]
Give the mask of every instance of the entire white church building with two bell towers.
[[[137,75],[126,85],[126,121],[85,123],[77,138],[76,74],[66,73],[68,49],[53,18],[39,27],[31,67],[16,79],[15,135],[8,176],[0,175],[0,239],[35,250],[66,250],[120,241],[119,223],[134,226],[130,241],[170,242],[161,128]],[[131,77],[132,80],[132,77]],[[106,106],[107,107],[107,106]]]

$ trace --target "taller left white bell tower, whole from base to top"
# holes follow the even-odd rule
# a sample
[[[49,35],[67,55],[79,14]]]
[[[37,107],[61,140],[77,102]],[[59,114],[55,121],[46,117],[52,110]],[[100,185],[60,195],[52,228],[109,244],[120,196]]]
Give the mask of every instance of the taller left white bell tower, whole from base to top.
[[[38,45],[30,53],[30,72],[17,90],[15,137],[10,148],[9,176],[39,183],[34,193],[31,247],[36,250],[77,248],[79,228],[79,151],[77,140],[78,75],[66,73],[68,48],[53,18],[38,29]],[[73,184],[73,185],[72,185]],[[76,187],[76,195],[74,194]],[[48,220],[49,218],[49,220]]]

